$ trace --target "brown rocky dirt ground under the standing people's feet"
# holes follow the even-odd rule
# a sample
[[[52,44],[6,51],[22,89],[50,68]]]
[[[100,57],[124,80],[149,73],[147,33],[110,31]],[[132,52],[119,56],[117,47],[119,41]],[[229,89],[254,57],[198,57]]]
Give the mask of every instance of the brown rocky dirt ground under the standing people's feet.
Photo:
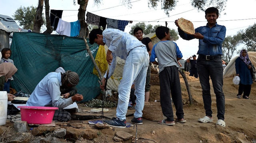
[[[217,121],[216,97],[212,93],[213,123],[199,123],[198,118],[204,117],[202,89],[199,79],[188,76],[193,104],[190,105],[188,92],[182,76],[182,98],[184,118],[186,123],[176,123],[174,126],[160,125],[156,121],[143,118],[143,125],[135,125],[125,129],[104,127],[104,125],[89,125],[88,121],[102,120],[100,114],[91,115],[91,119],[75,116],[70,122],[55,122],[55,126],[27,125],[24,121],[7,120],[0,126],[0,142],[3,143],[256,143],[256,85],[252,84],[250,100],[238,99],[238,85],[232,84],[233,77],[224,79],[226,128],[215,125]],[[150,101],[160,100],[158,73],[152,70]],[[212,84],[211,84],[212,86]],[[113,95],[111,100],[116,100]],[[88,110],[84,103],[78,104],[80,111]],[[175,107],[174,113],[175,113]],[[115,115],[115,108],[105,113]],[[126,121],[131,123],[132,113],[128,111]],[[74,116],[73,116],[74,117]],[[77,118],[78,117],[78,118]],[[174,115],[174,117],[176,117]]]

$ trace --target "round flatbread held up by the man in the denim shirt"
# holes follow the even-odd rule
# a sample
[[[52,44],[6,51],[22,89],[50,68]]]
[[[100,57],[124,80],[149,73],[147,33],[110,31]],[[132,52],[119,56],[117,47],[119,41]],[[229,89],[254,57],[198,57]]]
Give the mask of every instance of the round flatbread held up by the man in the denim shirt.
[[[191,21],[186,20],[184,18],[178,19],[178,26],[182,31],[184,31],[186,34],[195,34],[195,28]]]

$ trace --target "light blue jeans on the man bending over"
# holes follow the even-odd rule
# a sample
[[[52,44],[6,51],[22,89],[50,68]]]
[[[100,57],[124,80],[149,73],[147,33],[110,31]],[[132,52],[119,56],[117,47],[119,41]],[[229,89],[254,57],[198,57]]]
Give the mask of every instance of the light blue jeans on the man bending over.
[[[124,64],[122,79],[118,87],[118,104],[116,117],[126,119],[130,91],[134,81],[134,94],[136,95],[136,106],[134,117],[142,117],[145,101],[145,84],[148,70],[149,55],[146,47],[136,47],[130,50]]]

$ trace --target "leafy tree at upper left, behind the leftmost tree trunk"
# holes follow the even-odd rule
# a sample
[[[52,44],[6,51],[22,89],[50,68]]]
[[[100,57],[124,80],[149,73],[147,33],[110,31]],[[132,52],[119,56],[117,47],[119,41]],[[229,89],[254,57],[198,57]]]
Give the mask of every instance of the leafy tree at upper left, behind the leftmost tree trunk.
[[[18,20],[20,26],[23,26],[24,29],[31,29],[33,30],[34,19],[36,16],[36,7],[28,6],[28,7],[21,7],[18,8],[12,17],[14,20]],[[42,16],[43,23],[44,23],[44,15]]]

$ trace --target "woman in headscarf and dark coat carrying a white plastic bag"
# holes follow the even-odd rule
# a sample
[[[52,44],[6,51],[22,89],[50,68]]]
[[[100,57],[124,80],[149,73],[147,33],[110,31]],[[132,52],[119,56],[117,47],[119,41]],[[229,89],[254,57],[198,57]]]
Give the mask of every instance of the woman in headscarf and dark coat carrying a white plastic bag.
[[[252,68],[252,62],[248,57],[246,50],[241,50],[240,56],[236,59],[236,75],[240,77],[240,83],[238,88],[237,98],[241,98],[244,92],[243,98],[250,99],[249,95],[251,92],[252,75],[250,69]]]

